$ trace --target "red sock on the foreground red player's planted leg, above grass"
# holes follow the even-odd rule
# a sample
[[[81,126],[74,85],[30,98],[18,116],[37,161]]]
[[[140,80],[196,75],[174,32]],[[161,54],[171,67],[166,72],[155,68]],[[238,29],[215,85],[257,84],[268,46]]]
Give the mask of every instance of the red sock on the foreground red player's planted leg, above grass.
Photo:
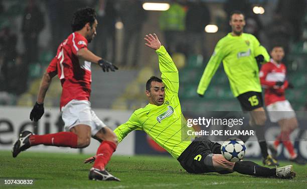
[[[108,164],[115,149],[116,144],[114,142],[102,141],[97,149],[96,160],[93,167],[104,170],[104,167]]]

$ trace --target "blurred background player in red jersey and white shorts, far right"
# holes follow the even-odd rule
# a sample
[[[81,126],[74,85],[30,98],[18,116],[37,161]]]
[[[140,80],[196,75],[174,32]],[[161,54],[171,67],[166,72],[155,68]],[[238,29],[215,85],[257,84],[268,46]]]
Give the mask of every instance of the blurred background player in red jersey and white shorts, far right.
[[[278,123],[281,128],[280,135],[276,138],[271,149],[276,155],[280,143],[288,150],[290,161],[305,164],[305,161],[295,151],[289,135],[297,128],[297,120],[289,101],[285,98],[285,89],[291,87],[286,80],[286,67],[281,62],[284,50],[281,46],[274,46],[271,50],[270,62],[263,64],[259,73],[260,82],[264,91],[264,103],[273,123]]]

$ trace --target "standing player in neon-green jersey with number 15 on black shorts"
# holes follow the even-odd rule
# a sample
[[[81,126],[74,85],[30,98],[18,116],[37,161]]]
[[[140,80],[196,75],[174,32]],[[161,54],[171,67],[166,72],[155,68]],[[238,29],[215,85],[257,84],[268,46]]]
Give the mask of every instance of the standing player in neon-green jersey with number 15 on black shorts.
[[[255,36],[243,33],[245,20],[241,12],[235,11],[231,13],[229,24],[232,32],[217,43],[199,82],[197,93],[200,97],[204,96],[211,78],[223,61],[231,91],[234,97],[239,100],[243,111],[249,112],[249,124],[256,130],[263,164],[269,166],[278,165],[277,161],[268,154],[264,138],[263,129],[266,116],[263,109],[259,68],[257,65],[257,62],[268,62],[269,55]]]

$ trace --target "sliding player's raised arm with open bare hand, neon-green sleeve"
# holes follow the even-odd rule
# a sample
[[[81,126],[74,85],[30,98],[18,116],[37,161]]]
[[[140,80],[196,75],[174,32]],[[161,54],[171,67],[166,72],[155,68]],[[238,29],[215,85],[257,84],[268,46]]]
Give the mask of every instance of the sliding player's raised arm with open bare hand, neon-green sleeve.
[[[175,94],[178,95],[179,90],[179,74],[178,69],[173,62],[171,56],[161,45],[159,38],[156,34],[148,34],[145,36],[145,45],[156,50],[159,56],[159,68],[162,73],[161,79],[166,85],[166,95]]]

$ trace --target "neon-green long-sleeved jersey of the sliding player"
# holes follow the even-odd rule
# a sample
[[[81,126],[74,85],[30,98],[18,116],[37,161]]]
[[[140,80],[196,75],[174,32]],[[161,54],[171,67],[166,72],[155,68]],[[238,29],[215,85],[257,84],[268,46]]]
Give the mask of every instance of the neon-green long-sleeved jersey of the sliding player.
[[[178,158],[191,144],[192,136],[187,134],[191,128],[187,127],[181,112],[178,69],[164,46],[156,52],[159,56],[161,78],[165,84],[164,104],[148,104],[134,111],[129,120],[118,126],[114,132],[120,142],[129,132],[143,130],[173,157]]]

